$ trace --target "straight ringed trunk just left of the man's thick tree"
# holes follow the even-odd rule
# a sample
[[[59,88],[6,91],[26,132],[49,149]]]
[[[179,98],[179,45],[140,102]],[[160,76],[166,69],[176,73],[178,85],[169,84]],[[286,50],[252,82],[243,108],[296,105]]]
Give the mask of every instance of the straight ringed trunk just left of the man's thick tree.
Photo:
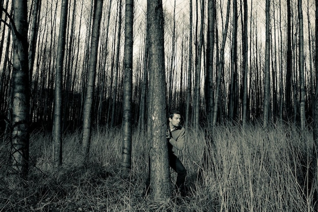
[[[130,170],[132,166],[133,25],[134,0],[126,0],[121,158],[123,177],[126,177],[127,170]]]

